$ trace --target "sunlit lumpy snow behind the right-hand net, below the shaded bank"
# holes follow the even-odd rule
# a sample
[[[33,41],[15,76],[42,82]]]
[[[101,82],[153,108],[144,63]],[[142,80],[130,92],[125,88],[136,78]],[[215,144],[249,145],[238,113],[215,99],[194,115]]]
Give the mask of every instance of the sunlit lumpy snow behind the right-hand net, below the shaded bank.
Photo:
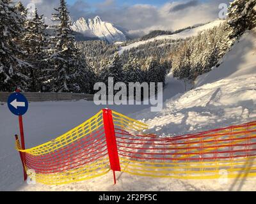
[[[164,104],[164,110],[133,115],[144,119],[148,133],[183,135],[230,124],[256,120],[256,75],[223,79],[179,94]]]

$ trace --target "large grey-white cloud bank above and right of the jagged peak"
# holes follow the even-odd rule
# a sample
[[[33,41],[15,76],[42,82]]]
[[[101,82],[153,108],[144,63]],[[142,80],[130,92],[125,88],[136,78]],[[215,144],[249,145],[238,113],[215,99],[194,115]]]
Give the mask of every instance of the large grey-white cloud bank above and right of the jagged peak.
[[[161,7],[135,4],[118,8],[99,8],[88,13],[88,16],[99,15],[102,20],[125,27],[131,34],[143,35],[155,29],[175,31],[190,25],[216,20],[220,11],[219,4],[228,4],[229,1],[209,0],[205,3],[172,1]]]

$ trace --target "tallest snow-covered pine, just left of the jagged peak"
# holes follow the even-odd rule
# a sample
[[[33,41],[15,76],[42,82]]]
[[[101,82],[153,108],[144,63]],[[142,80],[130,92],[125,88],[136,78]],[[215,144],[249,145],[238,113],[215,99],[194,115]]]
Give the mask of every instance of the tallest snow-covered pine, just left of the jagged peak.
[[[77,69],[84,68],[77,56],[80,56],[76,46],[74,34],[70,28],[70,17],[68,16],[67,3],[60,0],[60,6],[55,8],[56,13],[52,14],[52,20],[59,22],[55,25],[56,34],[52,39],[54,42],[51,64],[53,66],[52,78],[48,80],[50,91],[54,92],[81,92],[77,82],[81,80]],[[79,65],[79,66],[78,66]]]

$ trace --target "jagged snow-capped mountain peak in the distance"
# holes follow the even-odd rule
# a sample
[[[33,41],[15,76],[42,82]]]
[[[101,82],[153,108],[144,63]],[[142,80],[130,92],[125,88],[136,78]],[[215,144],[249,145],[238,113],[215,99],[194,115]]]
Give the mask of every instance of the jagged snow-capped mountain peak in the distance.
[[[71,28],[73,31],[81,33],[86,37],[97,37],[109,43],[126,40],[125,34],[122,31],[116,29],[113,24],[102,21],[99,16],[93,19],[89,18],[88,21],[83,17],[79,18],[72,23]]]

